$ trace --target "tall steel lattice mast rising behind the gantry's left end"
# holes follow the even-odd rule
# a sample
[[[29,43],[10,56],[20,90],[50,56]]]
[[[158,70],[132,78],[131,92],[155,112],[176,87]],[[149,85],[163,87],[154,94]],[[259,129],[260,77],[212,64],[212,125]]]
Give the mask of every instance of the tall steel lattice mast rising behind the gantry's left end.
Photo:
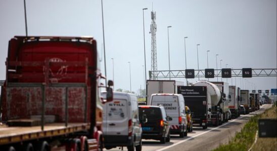
[[[152,71],[157,71],[157,46],[156,46],[156,32],[157,32],[157,24],[156,24],[156,12],[151,12],[151,27],[150,27],[150,32],[151,33],[151,70]],[[157,79],[156,72],[152,75],[153,79]]]

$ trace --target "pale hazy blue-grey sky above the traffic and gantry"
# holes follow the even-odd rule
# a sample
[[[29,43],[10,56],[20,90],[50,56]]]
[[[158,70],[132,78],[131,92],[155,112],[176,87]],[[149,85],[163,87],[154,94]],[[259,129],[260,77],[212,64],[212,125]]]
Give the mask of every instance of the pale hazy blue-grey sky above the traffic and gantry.
[[[170,36],[171,69],[184,69],[183,37],[188,36],[188,68],[216,68],[215,54],[222,67],[276,68],[276,1],[111,1],[103,0],[107,77],[112,79],[114,58],[115,89],[129,90],[131,62],[132,91],[143,88],[143,8],[145,11],[147,71],[151,65],[150,24],[152,11],[157,15],[158,70],[168,69],[167,26]],[[102,56],[101,1],[26,0],[28,35],[94,36]],[[9,40],[25,35],[23,1],[0,1],[0,80],[5,79],[5,60]],[[102,61],[102,71],[104,64]],[[148,76],[147,76],[148,77]],[[240,87],[240,79],[236,78]],[[184,81],[184,79],[177,79]],[[195,82],[195,80],[190,80]],[[210,79],[211,80],[211,79]],[[213,80],[216,81],[216,78]],[[225,80],[224,80],[225,81]],[[230,83],[231,80],[228,80]],[[235,83],[235,79],[233,80]],[[245,81],[245,80],[244,80]],[[276,88],[276,77],[251,78],[256,89]]]

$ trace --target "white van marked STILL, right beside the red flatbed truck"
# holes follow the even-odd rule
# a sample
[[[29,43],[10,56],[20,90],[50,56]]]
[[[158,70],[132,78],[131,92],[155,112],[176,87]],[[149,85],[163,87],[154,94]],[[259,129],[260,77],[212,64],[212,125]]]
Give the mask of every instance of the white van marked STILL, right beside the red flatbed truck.
[[[105,99],[106,92],[101,96]],[[128,150],[142,150],[142,127],[135,95],[114,92],[113,101],[104,104],[103,136],[107,149],[127,146]]]

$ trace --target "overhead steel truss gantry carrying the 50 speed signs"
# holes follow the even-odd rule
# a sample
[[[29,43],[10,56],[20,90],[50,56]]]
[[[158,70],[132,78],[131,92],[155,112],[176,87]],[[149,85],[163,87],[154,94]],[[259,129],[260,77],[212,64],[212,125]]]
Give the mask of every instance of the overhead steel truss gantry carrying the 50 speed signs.
[[[251,69],[251,72],[250,72]],[[206,78],[207,69],[187,69],[187,70],[157,70],[157,71],[149,71],[149,79],[167,79],[169,78]],[[226,71],[226,70],[225,70]],[[243,71],[244,74],[243,74]],[[243,68],[243,69],[228,69],[228,76],[224,73],[221,69],[214,69],[214,77],[224,77],[231,78],[231,77],[243,77],[243,78],[250,78],[250,77],[277,77],[277,68]],[[155,77],[154,77],[155,75]],[[225,76],[226,75],[226,76]],[[222,78],[224,78],[222,77]]]

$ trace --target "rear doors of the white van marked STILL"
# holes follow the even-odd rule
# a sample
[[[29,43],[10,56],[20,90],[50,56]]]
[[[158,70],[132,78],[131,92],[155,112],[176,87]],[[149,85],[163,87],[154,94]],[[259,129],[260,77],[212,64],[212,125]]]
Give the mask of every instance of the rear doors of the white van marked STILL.
[[[104,105],[104,135],[128,135],[128,103],[125,99],[116,99]],[[106,137],[109,139],[109,137]],[[107,140],[108,141],[108,140]]]

